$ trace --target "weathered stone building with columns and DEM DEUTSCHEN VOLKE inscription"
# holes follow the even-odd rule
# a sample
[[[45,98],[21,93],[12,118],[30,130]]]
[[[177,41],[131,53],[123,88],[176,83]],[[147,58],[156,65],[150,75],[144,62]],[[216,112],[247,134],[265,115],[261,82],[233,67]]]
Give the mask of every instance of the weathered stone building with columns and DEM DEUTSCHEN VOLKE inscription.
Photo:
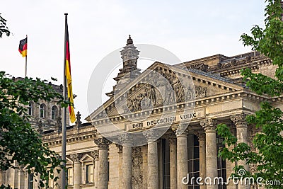
[[[129,50],[134,51],[132,60],[127,55]],[[134,47],[131,38],[121,53],[124,67],[120,69],[116,81],[123,80],[123,76],[127,75],[128,71],[134,71],[134,74],[123,80],[125,86],[127,82],[134,82],[135,79],[142,81],[150,77],[139,73],[137,69],[139,51]],[[183,71],[184,65],[188,72]],[[173,91],[178,93],[174,99],[168,91],[162,91],[162,87],[165,86],[161,84],[158,85],[159,92],[150,85],[141,84],[132,88],[119,88],[121,96],[117,96],[117,99],[127,98],[124,107],[114,105],[113,91],[107,93],[110,100],[91,113],[86,118],[87,123],[81,123],[78,114],[76,125],[67,127],[68,188],[188,188],[182,183],[187,175],[202,178],[228,177],[232,172],[233,164],[217,158],[221,139],[215,132],[216,124],[226,123],[239,142],[250,144],[255,132],[258,131],[247,125],[245,116],[255,113],[261,101],[271,101],[275,106],[282,108],[282,98],[258,96],[246,88],[241,81],[240,70],[243,67],[270,76],[275,71],[270,59],[258,52],[233,57],[214,55],[176,64],[173,67],[155,62],[149,69],[157,71],[168,79]],[[190,76],[185,73],[189,73]],[[188,77],[192,79],[195,91],[192,91],[192,88],[182,88],[176,81],[176,78],[183,80]],[[160,102],[159,95],[164,95],[167,103]],[[151,104],[148,105],[152,105],[152,110],[144,108],[146,107],[143,104],[144,98],[151,100]],[[172,103],[173,100],[175,103]],[[48,107],[51,106],[47,105]],[[183,110],[186,107],[194,107],[193,113],[184,115]],[[118,113],[118,108],[123,110],[123,115]],[[156,139],[155,130],[151,130],[154,126],[144,125],[142,122],[151,120],[160,122],[158,116],[165,110],[174,110],[175,119],[169,126],[167,125],[168,130]],[[127,120],[143,118],[146,115],[150,116],[141,121],[139,127],[131,127],[129,124],[131,122]],[[190,121],[182,122],[182,119],[188,116]],[[38,117],[37,113],[35,117]],[[58,122],[60,124],[60,121]],[[116,142],[105,138],[99,132],[101,127],[109,125],[110,122],[125,132],[118,134]],[[42,131],[42,139],[50,149],[60,154],[62,133],[57,127],[50,129],[52,130]],[[143,133],[148,144],[132,146],[134,138],[128,133],[137,132]],[[239,161],[238,164],[246,166],[244,161]],[[248,166],[246,168],[248,169]],[[24,167],[21,170],[9,169],[0,173],[0,183],[9,183],[14,188],[28,189],[29,186],[31,187],[30,184],[35,188],[37,183],[30,179]],[[60,188],[52,181],[49,181],[49,184],[50,188]],[[188,183],[188,185],[190,188],[219,188],[218,185],[196,183]],[[227,185],[221,188],[246,188],[246,186]]]

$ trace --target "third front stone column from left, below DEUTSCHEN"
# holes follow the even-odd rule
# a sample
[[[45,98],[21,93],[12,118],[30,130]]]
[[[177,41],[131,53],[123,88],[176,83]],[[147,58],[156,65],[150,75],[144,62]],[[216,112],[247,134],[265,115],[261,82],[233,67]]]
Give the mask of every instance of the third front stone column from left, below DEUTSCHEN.
[[[157,137],[153,129],[146,130],[144,136],[147,141],[147,165],[148,165],[148,180],[147,188],[158,188],[158,151],[157,151]]]

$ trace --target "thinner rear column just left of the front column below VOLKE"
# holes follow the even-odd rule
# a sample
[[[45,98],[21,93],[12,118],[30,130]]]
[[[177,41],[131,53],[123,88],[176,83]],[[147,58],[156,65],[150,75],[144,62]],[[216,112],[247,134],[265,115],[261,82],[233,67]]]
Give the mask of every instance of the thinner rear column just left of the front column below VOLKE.
[[[177,189],[177,141],[175,134],[168,138],[170,149],[170,188]]]

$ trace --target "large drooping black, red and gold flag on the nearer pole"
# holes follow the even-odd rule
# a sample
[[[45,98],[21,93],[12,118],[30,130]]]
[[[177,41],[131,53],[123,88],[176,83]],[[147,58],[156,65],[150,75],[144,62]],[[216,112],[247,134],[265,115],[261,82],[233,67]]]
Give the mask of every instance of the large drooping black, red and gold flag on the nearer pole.
[[[68,31],[68,25],[66,28],[66,70],[65,70],[65,76],[67,78],[67,90],[68,90],[68,98],[71,102],[71,105],[69,105],[69,115],[71,122],[74,122],[76,120],[76,116],[74,113],[74,98],[73,98],[73,90],[71,87],[71,60],[70,60],[70,47],[69,47],[69,31]]]

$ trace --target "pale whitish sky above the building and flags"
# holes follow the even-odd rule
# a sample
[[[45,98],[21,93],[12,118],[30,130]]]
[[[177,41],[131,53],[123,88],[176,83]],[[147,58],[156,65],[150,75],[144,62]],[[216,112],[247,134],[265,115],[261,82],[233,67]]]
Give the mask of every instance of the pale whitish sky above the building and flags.
[[[0,13],[11,35],[0,38],[0,69],[24,76],[25,59],[18,45],[28,35],[28,76],[54,77],[58,81],[52,84],[62,84],[64,13],[68,13],[75,112],[86,118],[93,70],[103,57],[124,47],[129,34],[134,44],[163,47],[183,62],[217,54],[229,57],[250,52],[239,39],[253,25],[264,25],[264,8],[263,0],[3,1]],[[151,63],[140,61],[137,66]],[[112,74],[117,75],[117,69]],[[115,81],[106,83],[110,92]]]

